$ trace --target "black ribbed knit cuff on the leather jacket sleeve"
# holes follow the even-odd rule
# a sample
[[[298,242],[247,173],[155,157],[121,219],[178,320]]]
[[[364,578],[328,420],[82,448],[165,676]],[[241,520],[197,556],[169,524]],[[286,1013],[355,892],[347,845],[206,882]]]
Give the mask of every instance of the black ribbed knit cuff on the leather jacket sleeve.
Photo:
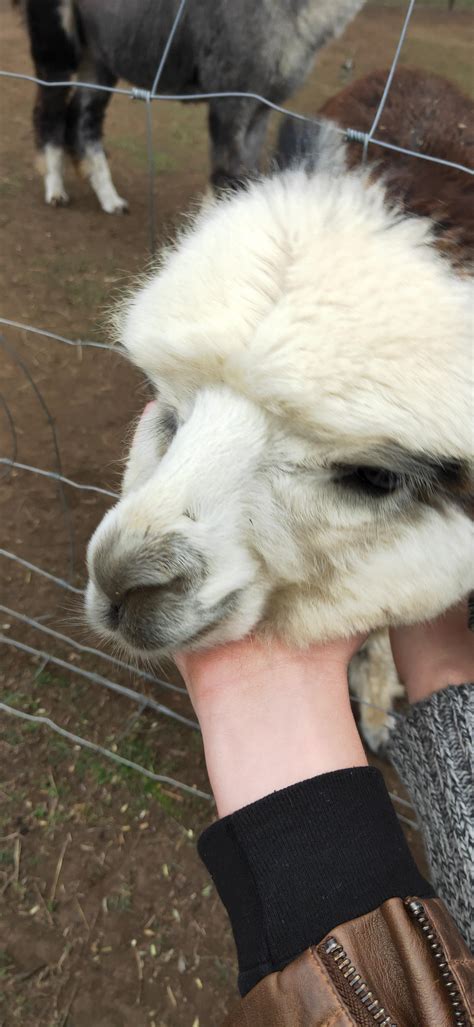
[[[339,923],[433,895],[374,767],[274,792],[207,828],[198,849],[231,920],[241,994]]]

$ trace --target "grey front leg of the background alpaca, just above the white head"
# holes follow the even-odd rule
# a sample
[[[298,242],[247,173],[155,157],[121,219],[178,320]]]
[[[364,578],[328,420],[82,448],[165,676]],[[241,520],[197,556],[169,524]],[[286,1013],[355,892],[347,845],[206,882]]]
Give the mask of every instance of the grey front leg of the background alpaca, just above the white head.
[[[267,121],[268,112],[256,101],[210,101],[210,181],[214,189],[238,188],[258,170]]]

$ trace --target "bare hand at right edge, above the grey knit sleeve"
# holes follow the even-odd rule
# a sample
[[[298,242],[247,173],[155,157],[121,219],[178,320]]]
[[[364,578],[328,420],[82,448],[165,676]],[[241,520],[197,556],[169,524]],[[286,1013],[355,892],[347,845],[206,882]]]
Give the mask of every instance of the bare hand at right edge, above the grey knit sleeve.
[[[428,623],[391,629],[390,641],[410,702],[447,685],[474,681],[474,634],[468,627],[467,602]]]

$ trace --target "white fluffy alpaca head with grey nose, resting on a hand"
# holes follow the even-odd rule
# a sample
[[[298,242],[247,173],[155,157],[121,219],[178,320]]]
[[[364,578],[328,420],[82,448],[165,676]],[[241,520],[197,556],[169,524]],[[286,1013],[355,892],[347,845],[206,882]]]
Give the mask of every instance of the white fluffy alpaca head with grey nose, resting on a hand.
[[[305,644],[460,599],[471,300],[360,174],[203,210],[117,316],[156,398],[89,544],[92,626],[149,654]]]

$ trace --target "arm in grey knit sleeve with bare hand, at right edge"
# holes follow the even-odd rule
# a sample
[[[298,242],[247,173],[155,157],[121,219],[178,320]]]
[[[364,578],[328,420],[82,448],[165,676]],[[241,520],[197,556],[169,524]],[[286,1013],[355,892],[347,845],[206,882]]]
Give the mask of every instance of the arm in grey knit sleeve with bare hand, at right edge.
[[[417,810],[431,877],[474,949],[474,635],[466,603],[391,633],[410,709],[388,752]]]

